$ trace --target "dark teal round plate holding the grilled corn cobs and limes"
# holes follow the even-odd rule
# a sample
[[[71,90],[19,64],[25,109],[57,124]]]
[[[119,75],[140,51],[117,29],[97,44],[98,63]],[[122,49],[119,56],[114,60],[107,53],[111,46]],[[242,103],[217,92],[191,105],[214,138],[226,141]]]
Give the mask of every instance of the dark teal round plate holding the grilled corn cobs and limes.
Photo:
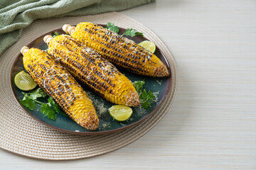
[[[125,29],[120,28],[119,33],[120,34],[124,33],[124,30]],[[45,35],[50,35],[50,34],[53,35],[55,31],[58,31],[59,34],[64,34],[63,30],[59,28],[57,30],[53,30],[49,33],[46,33]],[[45,42],[43,42],[43,37],[45,35],[41,35],[39,38],[36,38],[36,40],[33,40],[33,42],[31,42],[27,46],[30,48],[36,47],[41,50],[46,50],[47,45]],[[130,37],[127,37],[127,38],[130,38]],[[147,40],[142,36],[136,36],[130,39],[134,40],[137,43]],[[156,47],[156,52],[154,54],[157,57],[159,57],[159,59],[162,62],[164,62],[164,64],[166,64],[167,68],[170,71],[171,69],[170,69],[169,63],[166,60],[166,57],[164,56],[164,54],[159,50],[158,47]],[[22,91],[18,89],[14,84],[14,77],[18,72],[25,71],[23,67],[22,57],[23,55],[21,54],[18,55],[18,57],[16,58],[11,68],[11,89],[18,103],[23,98],[23,94],[21,94]],[[150,90],[150,91],[159,93],[158,101],[151,103],[151,108],[148,108],[147,110],[144,110],[141,108],[132,108],[133,113],[131,118],[129,118],[127,121],[124,121],[124,122],[118,122],[110,116],[110,113],[108,112],[108,108],[113,106],[112,103],[106,101],[104,98],[100,98],[99,96],[94,94],[92,91],[86,89],[85,86],[83,87],[87,92],[87,94],[92,99],[97,115],[100,118],[99,128],[95,131],[89,131],[89,130],[86,130],[85,128],[82,128],[82,126],[78,125],[77,123],[75,123],[75,121],[71,120],[68,117],[65,117],[64,115],[57,114],[57,117],[55,120],[50,120],[41,113],[39,106],[34,111],[30,111],[28,108],[21,105],[21,103],[19,104],[23,108],[23,110],[26,113],[28,113],[28,115],[31,115],[32,118],[38,120],[39,122],[45,125],[50,126],[51,128],[54,128],[56,130],[61,130],[63,132],[68,132],[68,133],[73,133],[78,135],[102,135],[102,134],[107,134],[111,132],[117,132],[119,130],[124,130],[126,128],[132,127],[133,125],[136,125],[137,123],[142,122],[142,120],[144,120],[145,118],[156,113],[159,106],[161,106],[161,104],[164,102],[166,98],[166,94],[168,94],[170,91],[171,77],[165,77],[165,78],[144,77],[144,76],[139,76],[137,74],[132,74],[122,69],[119,69],[119,71],[125,74],[125,76],[128,77],[132,82],[144,79],[146,81],[144,88],[147,91]],[[105,111],[104,110],[102,111],[99,108],[105,108]]]

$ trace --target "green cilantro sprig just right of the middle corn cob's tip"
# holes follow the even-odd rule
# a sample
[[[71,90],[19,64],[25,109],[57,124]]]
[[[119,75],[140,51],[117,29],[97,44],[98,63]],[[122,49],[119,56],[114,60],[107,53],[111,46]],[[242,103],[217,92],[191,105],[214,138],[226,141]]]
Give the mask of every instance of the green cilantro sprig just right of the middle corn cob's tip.
[[[134,84],[136,91],[139,94],[139,102],[141,103],[141,107],[144,109],[151,107],[151,101],[153,99],[157,100],[157,97],[156,97],[157,93],[156,92],[153,93],[151,91],[146,92],[146,89],[143,89],[143,86],[145,84],[144,80],[143,81],[134,81],[133,84]]]

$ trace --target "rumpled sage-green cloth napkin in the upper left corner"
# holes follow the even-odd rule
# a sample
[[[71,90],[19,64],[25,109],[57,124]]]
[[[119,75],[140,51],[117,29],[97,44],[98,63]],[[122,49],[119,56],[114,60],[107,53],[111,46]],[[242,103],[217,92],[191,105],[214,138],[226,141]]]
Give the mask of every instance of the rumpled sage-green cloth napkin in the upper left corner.
[[[23,28],[36,19],[121,11],[153,1],[155,0],[1,0],[0,54],[20,38]]]

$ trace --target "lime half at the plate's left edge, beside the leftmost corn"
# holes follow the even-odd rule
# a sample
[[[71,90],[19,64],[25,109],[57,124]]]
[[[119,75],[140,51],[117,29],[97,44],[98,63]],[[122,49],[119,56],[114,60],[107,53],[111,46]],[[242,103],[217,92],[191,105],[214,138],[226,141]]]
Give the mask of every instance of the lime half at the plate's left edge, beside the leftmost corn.
[[[21,89],[23,91],[30,91],[32,89],[35,89],[36,87],[36,82],[33,81],[29,74],[23,71],[16,74],[14,78],[14,83],[18,87],[18,89]]]

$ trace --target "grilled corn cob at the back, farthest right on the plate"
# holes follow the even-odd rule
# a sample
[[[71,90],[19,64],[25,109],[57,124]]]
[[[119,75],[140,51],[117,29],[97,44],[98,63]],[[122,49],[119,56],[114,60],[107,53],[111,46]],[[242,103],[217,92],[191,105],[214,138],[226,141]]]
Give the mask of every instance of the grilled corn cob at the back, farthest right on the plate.
[[[93,23],[79,23],[76,27],[64,25],[63,30],[118,67],[151,77],[168,77],[161,60],[132,40]]]

